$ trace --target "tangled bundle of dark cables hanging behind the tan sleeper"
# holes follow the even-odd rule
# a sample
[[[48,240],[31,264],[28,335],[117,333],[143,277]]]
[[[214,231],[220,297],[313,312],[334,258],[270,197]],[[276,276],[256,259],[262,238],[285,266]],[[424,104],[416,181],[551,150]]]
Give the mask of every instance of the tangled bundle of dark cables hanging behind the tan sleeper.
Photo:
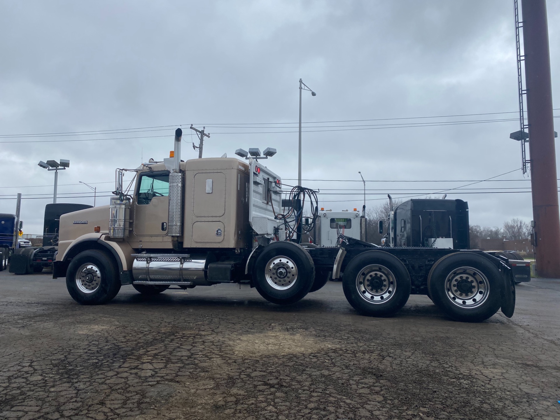
[[[274,212],[274,218],[276,218],[276,220],[282,220],[284,222],[284,226],[286,227],[286,240],[292,240],[293,235],[297,234],[300,225],[303,232],[311,232],[313,230],[315,221],[319,216],[319,199],[317,198],[317,192],[315,190],[305,188],[304,186],[294,186],[288,200],[291,202],[290,211],[276,214],[276,212],[274,212],[274,206],[272,211]],[[308,224],[302,223],[306,200],[311,206],[311,222]],[[272,203],[272,200],[270,200],[270,202]],[[298,207],[297,204],[300,202],[301,206],[296,210]],[[293,220],[290,220],[292,217]]]

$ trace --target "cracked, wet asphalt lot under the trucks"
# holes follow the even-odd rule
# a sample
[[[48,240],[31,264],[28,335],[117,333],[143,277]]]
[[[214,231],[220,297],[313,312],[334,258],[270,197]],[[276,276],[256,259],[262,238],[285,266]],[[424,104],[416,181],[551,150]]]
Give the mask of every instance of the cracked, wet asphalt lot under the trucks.
[[[0,418],[557,419],[558,302],[534,279],[480,324],[426,296],[360,316],[334,282],[291,306],[237,284],[80,306],[64,279],[4,271]]]

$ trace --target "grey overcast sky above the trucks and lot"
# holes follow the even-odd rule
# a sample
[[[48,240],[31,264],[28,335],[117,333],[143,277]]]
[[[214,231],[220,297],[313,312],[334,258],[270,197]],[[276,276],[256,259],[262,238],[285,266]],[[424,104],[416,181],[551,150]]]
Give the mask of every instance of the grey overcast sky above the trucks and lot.
[[[54,174],[41,169],[39,160],[71,161],[59,174],[58,202],[93,204],[90,190],[78,184],[84,181],[97,187],[98,206],[108,204],[109,198],[100,196],[113,190],[115,167],[167,157],[180,124],[184,160],[198,156],[187,143],[198,143],[189,125],[206,125],[211,138],[204,157],[274,147],[277,155],[265,163],[295,185],[288,179],[297,178],[300,77],[317,92],[315,97],[304,92],[302,101],[303,178],[360,180],[362,171],[371,190],[367,206],[381,203],[388,192],[437,193],[521,166],[519,143],[508,139],[519,129],[515,113],[390,120],[517,111],[510,0],[1,1],[0,6],[0,134],[167,126],[0,138],[0,212],[15,212],[16,200],[8,199],[15,195],[9,194],[44,197],[22,200],[26,234],[41,233],[44,206],[52,202]],[[549,1],[554,104],[560,103],[559,21],[560,3]],[[433,125],[495,119],[512,120]],[[424,127],[380,125],[399,123]],[[345,125],[353,127],[340,127]],[[283,133],[270,133],[278,131]],[[242,134],[248,132],[253,134]],[[447,198],[469,202],[471,224],[530,221],[529,193],[480,194],[529,190],[527,178],[517,170],[496,179],[519,181],[479,183]],[[395,180],[449,182],[381,182]],[[40,186],[25,188],[32,185]],[[320,189],[325,208],[363,203],[361,182],[304,185]],[[63,198],[64,193],[87,197]]]

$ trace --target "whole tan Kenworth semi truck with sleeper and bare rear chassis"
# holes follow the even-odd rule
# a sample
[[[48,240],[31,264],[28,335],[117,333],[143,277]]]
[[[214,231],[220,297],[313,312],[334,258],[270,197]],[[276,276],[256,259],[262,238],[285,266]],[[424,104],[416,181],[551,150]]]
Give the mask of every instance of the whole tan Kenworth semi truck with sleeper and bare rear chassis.
[[[297,226],[287,225],[301,223],[301,211],[280,214],[282,181],[259,162],[260,152],[248,162],[183,162],[181,136],[177,129],[172,157],[130,170],[130,194],[119,169],[109,206],[60,217],[53,277],[66,277],[80,304],[105,303],[125,284],[155,295],[241,282],[270,302],[292,304],[323,287],[332,272],[364,315],[393,314],[417,294],[456,320],[484,320],[500,308],[512,316],[507,259],[478,250],[379,248],[344,235],[337,248],[304,248],[291,240]]]

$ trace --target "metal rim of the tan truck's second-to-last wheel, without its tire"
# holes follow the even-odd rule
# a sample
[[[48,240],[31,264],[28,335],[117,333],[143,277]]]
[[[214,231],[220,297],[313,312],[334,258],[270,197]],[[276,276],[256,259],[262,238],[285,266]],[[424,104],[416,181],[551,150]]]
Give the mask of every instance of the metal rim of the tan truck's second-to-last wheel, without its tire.
[[[356,276],[356,288],[369,304],[384,304],[395,295],[395,276],[383,265],[366,265]]]

